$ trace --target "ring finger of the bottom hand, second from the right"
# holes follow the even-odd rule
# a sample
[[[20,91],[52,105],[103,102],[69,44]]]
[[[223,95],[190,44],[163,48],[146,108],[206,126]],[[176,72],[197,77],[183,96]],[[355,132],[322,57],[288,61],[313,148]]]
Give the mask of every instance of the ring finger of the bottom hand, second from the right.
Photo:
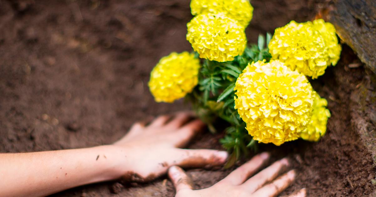
[[[296,173],[294,170],[290,170],[288,173],[280,176],[273,182],[258,189],[255,193],[253,193],[253,195],[260,197],[276,196],[280,192],[284,191],[289,185],[291,185],[291,183],[295,179],[295,174]]]

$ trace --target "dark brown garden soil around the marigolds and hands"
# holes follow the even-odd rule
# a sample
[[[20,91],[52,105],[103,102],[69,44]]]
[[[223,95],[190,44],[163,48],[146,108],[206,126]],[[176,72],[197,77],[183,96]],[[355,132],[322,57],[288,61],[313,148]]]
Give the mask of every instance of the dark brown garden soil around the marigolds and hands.
[[[290,20],[314,17],[325,0],[253,0],[250,42]],[[30,152],[109,144],[130,125],[187,109],[182,101],[157,104],[149,72],[171,51],[191,50],[185,40],[189,0],[0,1],[0,151]],[[287,192],[309,196],[363,196],[375,189],[372,158],[356,133],[349,101],[365,71],[344,47],[342,59],[313,82],[332,117],[318,143],[297,140],[263,145],[274,160],[289,156],[299,171]],[[221,149],[223,134],[201,134],[191,148]],[[240,165],[239,162],[237,165]],[[189,170],[196,188],[230,170]],[[115,192],[117,194],[112,194]],[[55,196],[174,196],[166,177],[151,183],[98,183]]]

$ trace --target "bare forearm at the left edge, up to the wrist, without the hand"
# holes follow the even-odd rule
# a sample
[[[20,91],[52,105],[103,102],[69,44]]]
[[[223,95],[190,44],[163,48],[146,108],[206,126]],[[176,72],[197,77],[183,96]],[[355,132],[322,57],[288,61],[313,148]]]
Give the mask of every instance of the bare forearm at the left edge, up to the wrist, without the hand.
[[[44,196],[117,179],[126,153],[113,146],[0,154],[0,196]],[[124,168],[124,167],[123,167]]]

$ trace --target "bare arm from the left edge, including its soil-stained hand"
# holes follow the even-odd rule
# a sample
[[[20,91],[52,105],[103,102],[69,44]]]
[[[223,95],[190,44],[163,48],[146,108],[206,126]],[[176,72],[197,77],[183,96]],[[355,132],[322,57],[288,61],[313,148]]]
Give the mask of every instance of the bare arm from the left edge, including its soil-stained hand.
[[[0,154],[0,196],[44,196],[74,186],[124,177],[145,182],[171,165],[210,167],[227,153],[180,149],[204,126],[188,113],[136,123],[114,144],[84,149]],[[170,120],[171,119],[171,120]]]

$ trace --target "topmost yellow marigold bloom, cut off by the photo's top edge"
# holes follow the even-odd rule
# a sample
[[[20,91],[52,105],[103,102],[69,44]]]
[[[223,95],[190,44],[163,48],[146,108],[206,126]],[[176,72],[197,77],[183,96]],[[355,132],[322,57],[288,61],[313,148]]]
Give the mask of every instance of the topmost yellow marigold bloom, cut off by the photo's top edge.
[[[243,26],[252,20],[253,7],[249,0],[192,0],[192,15],[223,12]]]

